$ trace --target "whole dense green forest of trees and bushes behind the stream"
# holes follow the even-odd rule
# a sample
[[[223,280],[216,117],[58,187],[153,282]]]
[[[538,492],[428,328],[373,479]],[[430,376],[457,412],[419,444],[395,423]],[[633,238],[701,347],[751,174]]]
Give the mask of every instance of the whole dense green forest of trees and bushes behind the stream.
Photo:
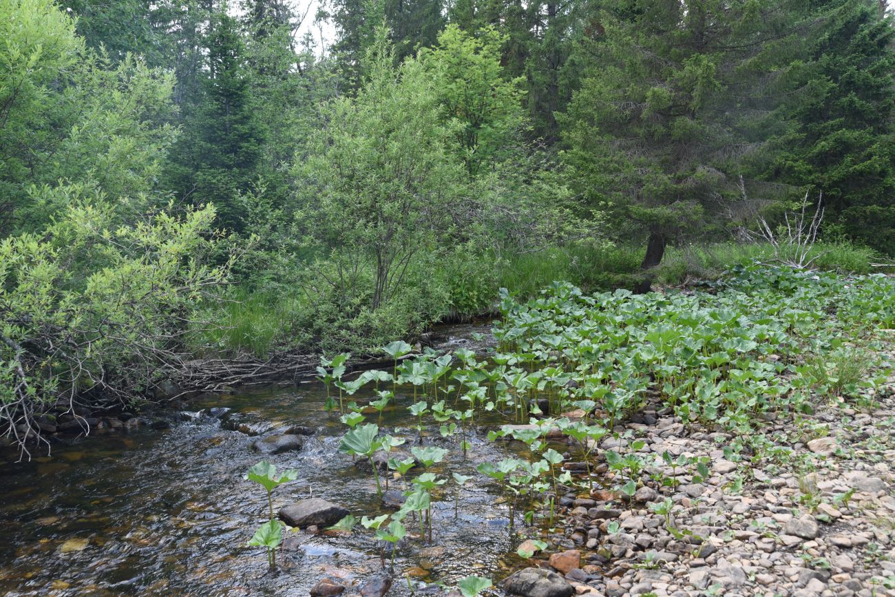
[[[2,415],[711,277],[805,197],[813,265],[868,271],[893,33],[877,0],[0,0]]]

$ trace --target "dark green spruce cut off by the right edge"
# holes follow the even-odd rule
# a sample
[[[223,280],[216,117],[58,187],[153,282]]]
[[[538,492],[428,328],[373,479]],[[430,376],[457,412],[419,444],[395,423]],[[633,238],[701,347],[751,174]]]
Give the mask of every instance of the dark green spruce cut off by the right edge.
[[[875,0],[828,0],[808,14],[810,59],[788,82],[766,176],[823,193],[826,232],[895,251],[895,28]],[[832,226],[831,226],[832,225]]]

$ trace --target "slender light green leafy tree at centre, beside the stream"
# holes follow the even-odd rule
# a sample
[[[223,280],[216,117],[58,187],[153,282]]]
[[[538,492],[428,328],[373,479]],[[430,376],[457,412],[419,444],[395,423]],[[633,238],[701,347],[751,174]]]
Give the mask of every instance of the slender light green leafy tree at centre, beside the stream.
[[[328,282],[337,303],[369,294],[371,312],[398,299],[407,270],[449,226],[447,209],[462,188],[430,77],[415,61],[394,60],[380,32],[357,98],[328,105],[328,126],[294,168],[296,219],[326,254],[313,267],[316,280]],[[360,286],[367,280],[371,287]]]

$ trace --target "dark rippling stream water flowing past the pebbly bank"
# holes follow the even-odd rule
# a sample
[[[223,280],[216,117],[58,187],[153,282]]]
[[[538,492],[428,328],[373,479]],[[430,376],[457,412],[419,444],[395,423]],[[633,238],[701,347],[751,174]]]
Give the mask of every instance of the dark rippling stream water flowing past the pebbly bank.
[[[452,343],[471,341],[448,338],[447,347]],[[360,403],[371,391],[354,398]],[[401,388],[398,394],[379,426],[407,438],[402,448],[408,448],[419,441],[406,410],[413,397]],[[243,421],[314,430],[301,451],[264,456],[279,470],[298,472],[297,481],[275,490],[274,507],[315,496],[358,518],[388,512],[372,474],[338,452],[345,425],[324,411],[325,399],[317,383],[208,397],[191,404],[200,414],[181,415],[166,430],[60,444],[52,456],[30,463],[0,456],[6,457],[0,460],[0,593],[306,595],[322,576],[356,589],[381,571],[379,547],[360,525],[351,536],[291,532],[280,571],[266,572],[264,550],[246,542],[267,519],[267,498],[260,485],[243,480],[262,456],[253,452],[253,438],[208,414],[226,407]],[[377,421],[377,414],[367,416]],[[473,475],[473,481],[460,491],[458,507],[453,482],[433,494],[433,542],[417,539],[399,548],[389,594],[410,593],[403,576],[456,584],[471,574],[500,578],[518,563],[509,555],[518,540],[509,532],[499,487],[474,471],[515,449],[485,439],[486,423],[498,422],[478,422],[465,458],[456,439],[441,439],[435,427],[424,431],[423,443],[451,450],[433,471],[442,478]]]

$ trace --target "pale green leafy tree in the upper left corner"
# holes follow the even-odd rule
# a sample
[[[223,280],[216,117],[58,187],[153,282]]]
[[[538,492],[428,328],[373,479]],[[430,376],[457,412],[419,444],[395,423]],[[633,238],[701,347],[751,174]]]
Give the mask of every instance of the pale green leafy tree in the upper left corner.
[[[51,3],[0,4],[0,21],[0,234],[38,232],[78,201],[107,201],[122,223],[164,205],[170,75],[85,49]]]

